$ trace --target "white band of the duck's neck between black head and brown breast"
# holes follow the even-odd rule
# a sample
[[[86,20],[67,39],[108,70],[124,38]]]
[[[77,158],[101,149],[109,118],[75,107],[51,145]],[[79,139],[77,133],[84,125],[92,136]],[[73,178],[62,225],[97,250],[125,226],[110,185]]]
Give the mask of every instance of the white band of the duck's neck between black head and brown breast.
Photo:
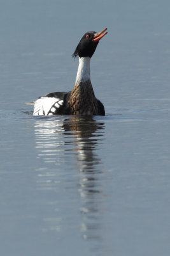
[[[76,84],[90,80],[90,57],[79,58]]]

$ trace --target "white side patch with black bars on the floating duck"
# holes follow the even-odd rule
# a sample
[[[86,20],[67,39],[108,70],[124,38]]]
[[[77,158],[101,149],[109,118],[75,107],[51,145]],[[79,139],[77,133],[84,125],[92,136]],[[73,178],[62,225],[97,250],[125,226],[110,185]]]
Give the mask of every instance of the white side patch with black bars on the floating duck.
[[[59,103],[59,104],[58,104]],[[49,113],[51,110],[52,112],[55,112],[55,108],[60,108],[62,106],[63,100],[57,99],[57,98],[50,98],[50,97],[41,97],[40,99],[36,100],[34,104],[34,116],[40,116],[40,115],[53,115],[52,113]],[[55,106],[55,108],[54,108]],[[48,114],[49,113],[49,114]]]

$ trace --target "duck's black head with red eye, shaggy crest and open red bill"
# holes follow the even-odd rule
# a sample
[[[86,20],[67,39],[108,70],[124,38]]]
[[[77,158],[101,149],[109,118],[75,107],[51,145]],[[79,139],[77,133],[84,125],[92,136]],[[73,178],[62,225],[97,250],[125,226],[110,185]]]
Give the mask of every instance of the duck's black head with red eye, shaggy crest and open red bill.
[[[83,35],[79,44],[77,45],[73,57],[76,58],[77,56],[81,57],[92,57],[94,54],[97,44],[99,40],[103,38],[108,32],[105,32],[107,29],[103,29],[103,31],[96,33],[95,31],[89,31]]]

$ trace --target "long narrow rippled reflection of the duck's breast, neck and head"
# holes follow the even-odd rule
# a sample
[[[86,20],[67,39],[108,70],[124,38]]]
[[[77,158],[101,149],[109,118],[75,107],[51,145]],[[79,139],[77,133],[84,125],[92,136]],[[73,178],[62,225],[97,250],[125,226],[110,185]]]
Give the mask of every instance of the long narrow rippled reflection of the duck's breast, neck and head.
[[[73,116],[70,122],[64,122],[65,132],[74,132],[74,150],[80,170],[79,193],[82,215],[81,232],[83,239],[101,241],[101,219],[99,202],[103,193],[99,187],[99,173],[102,171],[101,159],[97,156],[97,143],[103,136],[104,123],[92,118]]]

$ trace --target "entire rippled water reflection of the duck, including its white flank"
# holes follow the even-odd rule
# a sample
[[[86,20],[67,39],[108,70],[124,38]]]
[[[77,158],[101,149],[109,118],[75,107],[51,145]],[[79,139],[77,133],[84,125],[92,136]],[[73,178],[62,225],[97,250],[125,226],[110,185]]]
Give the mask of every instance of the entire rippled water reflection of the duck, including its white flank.
[[[47,164],[38,170],[39,188],[56,189],[60,177],[58,170],[56,172],[53,166],[59,166],[62,173],[69,170],[69,177],[66,175],[65,182],[76,172],[74,180],[71,182],[74,189],[78,184],[81,198],[77,204],[77,207],[80,208],[78,212],[81,212],[80,230],[83,239],[99,242],[97,248],[94,248],[93,244],[93,248],[90,249],[95,251],[99,250],[102,239],[100,212],[103,198],[101,190],[102,163],[100,157],[97,156],[97,148],[102,142],[103,132],[104,124],[90,117],[37,118],[35,122],[38,157],[43,158],[44,163]],[[41,182],[42,176],[48,182]],[[50,182],[52,180],[53,182]],[[71,214],[71,207],[67,214]],[[59,228],[56,229],[59,230]]]

